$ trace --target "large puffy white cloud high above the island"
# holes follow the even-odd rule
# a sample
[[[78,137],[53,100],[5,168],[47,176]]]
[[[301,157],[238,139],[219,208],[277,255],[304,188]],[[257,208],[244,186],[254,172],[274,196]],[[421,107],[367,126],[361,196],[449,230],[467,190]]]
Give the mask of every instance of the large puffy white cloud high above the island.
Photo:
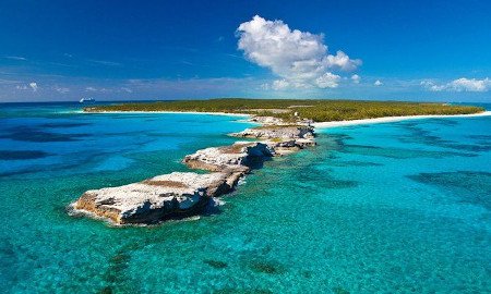
[[[351,72],[361,65],[361,60],[343,51],[331,54],[323,35],[290,29],[283,21],[255,15],[240,24],[237,34],[246,58],[279,77],[273,89],[334,88],[340,79],[334,72]]]

